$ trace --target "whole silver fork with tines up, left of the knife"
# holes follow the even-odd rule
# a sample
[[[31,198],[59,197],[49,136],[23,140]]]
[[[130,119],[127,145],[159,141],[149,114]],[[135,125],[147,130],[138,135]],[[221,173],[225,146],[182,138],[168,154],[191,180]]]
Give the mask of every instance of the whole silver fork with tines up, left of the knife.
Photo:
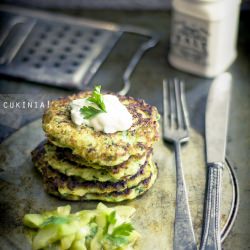
[[[181,163],[181,143],[188,139],[189,121],[184,83],[176,78],[163,80],[163,140],[174,145],[176,162],[175,250],[197,249]]]

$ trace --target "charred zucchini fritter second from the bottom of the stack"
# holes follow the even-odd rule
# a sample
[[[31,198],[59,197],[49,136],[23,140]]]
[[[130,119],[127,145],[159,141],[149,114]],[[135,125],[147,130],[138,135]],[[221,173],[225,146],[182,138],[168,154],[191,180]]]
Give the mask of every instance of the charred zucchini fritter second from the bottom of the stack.
[[[62,174],[49,166],[45,157],[45,150],[43,145],[38,146],[32,152],[32,160],[35,167],[41,172],[44,184],[54,185],[58,192],[63,196],[65,194],[70,196],[84,197],[87,194],[108,194],[113,192],[123,192],[140,185],[144,180],[152,176],[153,162],[151,157],[141,166],[140,170],[133,176],[125,180],[117,182],[100,182],[100,181],[86,181],[75,176],[69,177]]]

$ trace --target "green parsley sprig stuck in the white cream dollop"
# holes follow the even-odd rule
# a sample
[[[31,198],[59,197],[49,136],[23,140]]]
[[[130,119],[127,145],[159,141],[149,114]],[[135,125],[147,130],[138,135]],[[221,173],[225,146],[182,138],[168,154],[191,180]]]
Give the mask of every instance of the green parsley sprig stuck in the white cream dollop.
[[[91,97],[89,97],[87,100],[91,103],[94,103],[98,108],[93,106],[83,106],[80,109],[80,112],[83,114],[85,119],[91,119],[99,113],[107,112],[105,103],[103,101],[103,96],[101,94],[101,86],[95,86]]]

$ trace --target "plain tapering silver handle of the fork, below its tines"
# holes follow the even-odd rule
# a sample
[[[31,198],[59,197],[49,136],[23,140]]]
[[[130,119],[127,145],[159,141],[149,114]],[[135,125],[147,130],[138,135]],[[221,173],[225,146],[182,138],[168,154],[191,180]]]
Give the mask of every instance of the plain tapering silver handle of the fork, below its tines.
[[[188,205],[188,197],[184,174],[181,163],[181,145],[175,142],[176,160],[176,210],[174,223],[174,249],[193,250],[197,249],[191,214]]]

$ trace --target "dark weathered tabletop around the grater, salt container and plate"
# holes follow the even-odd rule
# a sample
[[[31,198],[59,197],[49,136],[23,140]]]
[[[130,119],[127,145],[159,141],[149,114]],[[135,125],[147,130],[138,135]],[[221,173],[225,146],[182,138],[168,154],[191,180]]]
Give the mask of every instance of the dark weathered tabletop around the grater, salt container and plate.
[[[204,135],[204,114],[211,79],[196,77],[172,68],[167,62],[168,39],[170,33],[170,12],[161,11],[109,11],[84,10],[67,11],[67,14],[132,24],[152,29],[161,35],[160,43],[142,59],[132,76],[129,95],[145,99],[162,112],[162,79],[178,76],[186,82],[187,103],[191,126]],[[233,75],[233,93],[228,132],[227,156],[237,173],[240,187],[240,207],[237,220],[231,233],[223,244],[223,249],[250,249],[250,186],[249,186],[249,148],[250,148],[250,12],[242,12],[239,26],[238,57],[228,70]],[[127,40],[126,40],[127,39]],[[128,63],[129,54],[136,49],[135,43],[125,37],[116,46],[90,83],[101,84],[104,89],[117,91],[122,86],[122,72]],[[65,96],[74,91],[59,89],[0,77],[0,141],[24,124],[41,117],[42,109],[3,108],[8,100],[45,101]]]

